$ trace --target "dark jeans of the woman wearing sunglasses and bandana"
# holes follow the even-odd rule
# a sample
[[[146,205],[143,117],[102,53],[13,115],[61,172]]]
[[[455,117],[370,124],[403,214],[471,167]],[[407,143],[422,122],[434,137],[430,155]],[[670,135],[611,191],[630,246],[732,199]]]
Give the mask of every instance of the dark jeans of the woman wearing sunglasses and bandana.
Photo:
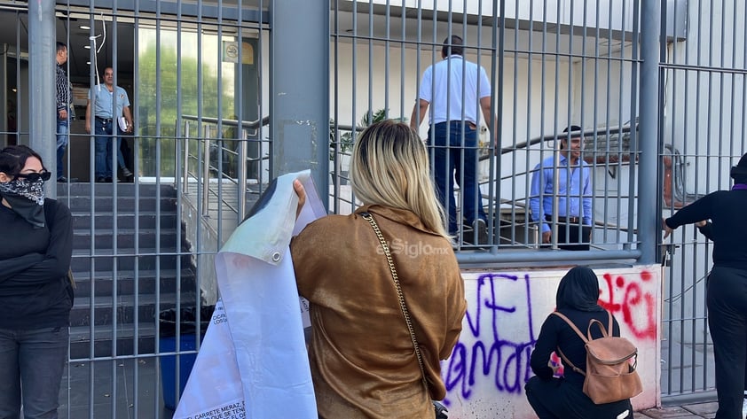
[[[59,383],[67,360],[67,326],[0,329],[0,417],[57,418]]]

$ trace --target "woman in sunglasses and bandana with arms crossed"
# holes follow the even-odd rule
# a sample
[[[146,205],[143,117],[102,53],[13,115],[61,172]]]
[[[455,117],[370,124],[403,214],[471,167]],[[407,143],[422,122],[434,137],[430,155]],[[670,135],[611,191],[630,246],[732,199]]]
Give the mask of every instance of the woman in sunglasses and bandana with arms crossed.
[[[73,293],[70,210],[25,145],[0,151],[0,417],[56,418]]]

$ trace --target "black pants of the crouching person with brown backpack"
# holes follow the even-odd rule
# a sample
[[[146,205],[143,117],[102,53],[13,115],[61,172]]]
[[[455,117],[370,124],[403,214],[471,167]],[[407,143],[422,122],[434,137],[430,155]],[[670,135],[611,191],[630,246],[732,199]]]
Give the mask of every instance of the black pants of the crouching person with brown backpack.
[[[595,405],[581,391],[580,384],[570,383],[563,378],[543,380],[539,376],[532,376],[524,390],[539,419],[616,419],[625,410],[628,415],[621,417],[633,419],[630,400]]]

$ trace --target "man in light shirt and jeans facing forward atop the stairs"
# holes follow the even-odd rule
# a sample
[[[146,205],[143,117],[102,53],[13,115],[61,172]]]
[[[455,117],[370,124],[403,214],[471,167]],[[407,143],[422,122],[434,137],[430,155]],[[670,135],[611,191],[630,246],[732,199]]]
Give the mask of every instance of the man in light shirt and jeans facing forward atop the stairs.
[[[85,131],[91,133],[90,124],[90,100],[94,100],[94,131],[96,136],[96,182],[112,182],[112,141],[116,138],[117,162],[122,169],[122,175],[125,178],[132,176],[132,172],[127,168],[122,156],[122,132],[132,132],[132,114],[130,113],[130,97],[127,92],[119,86],[114,86],[114,69],[106,67],[104,69],[104,83],[97,84],[90,89],[88,105],[85,109]],[[115,100],[116,99],[116,100]],[[114,109],[116,105],[116,109]],[[114,113],[112,113],[114,112]],[[126,128],[120,128],[119,119],[124,116]]]

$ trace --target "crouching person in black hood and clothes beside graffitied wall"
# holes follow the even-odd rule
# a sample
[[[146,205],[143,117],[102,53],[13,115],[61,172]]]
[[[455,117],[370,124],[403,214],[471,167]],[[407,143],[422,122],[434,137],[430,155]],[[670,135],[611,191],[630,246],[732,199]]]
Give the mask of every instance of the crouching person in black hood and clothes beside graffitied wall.
[[[592,319],[607,324],[609,314],[599,306],[599,280],[594,271],[586,267],[570,269],[562,277],[555,295],[558,312],[564,314],[580,330],[586,330]],[[601,338],[598,328],[592,330],[594,338]],[[620,336],[620,325],[613,317],[612,336]],[[558,348],[568,360],[586,370],[586,347],[570,325],[556,315],[549,315],[542,328],[530,365],[535,376],[524,386],[527,400],[539,419],[623,419],[633,417],[629,399],[601,405],[594,404],[583,392],[584,376],[564,366],[563,376],[555,377],[558,367],[549,364],[550,355]]]

